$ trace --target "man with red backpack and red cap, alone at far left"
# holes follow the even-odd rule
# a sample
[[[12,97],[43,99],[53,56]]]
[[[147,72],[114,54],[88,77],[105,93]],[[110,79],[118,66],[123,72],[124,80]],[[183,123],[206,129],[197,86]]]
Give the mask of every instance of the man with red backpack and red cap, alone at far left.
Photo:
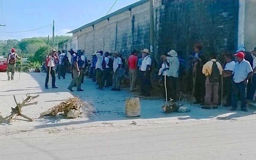
[[[12,48],[11,53],[8,54],[7,59],[6,59],[8,81],[10,81],[10,79],[14,80],[14,73],[15,73],[15,68],[16,68],[16,58],[22,59],[15,53],[15,48]],[[10,76],[10,72],[12,73],[11,76]]]

